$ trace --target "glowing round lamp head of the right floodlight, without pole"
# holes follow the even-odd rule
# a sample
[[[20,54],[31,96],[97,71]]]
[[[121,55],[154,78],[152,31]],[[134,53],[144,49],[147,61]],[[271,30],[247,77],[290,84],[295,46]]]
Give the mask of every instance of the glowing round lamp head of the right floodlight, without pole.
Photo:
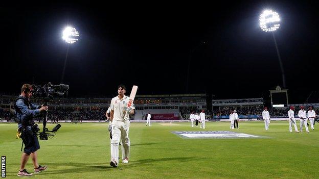
[[[280,18],[277,12],[272,10],[265,10],[259,16],[260,28],[265,32],[273,32],[279,29]]]

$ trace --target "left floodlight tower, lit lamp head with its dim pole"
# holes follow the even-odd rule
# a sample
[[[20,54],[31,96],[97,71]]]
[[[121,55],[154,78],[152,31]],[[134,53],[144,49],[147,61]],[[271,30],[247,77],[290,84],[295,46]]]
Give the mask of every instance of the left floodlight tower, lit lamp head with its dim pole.
[[[67,60],[67,55],[69,55],[70,44],[77,42],[79,40],[79,36],[80,36],[79,32],[71,26],[68,26],[63,30],[62,39],[67,43],[67,49],[66,49],[66,55],[64,60],[64,67],[62,71],[61,83],[63,83],[66,60]]]

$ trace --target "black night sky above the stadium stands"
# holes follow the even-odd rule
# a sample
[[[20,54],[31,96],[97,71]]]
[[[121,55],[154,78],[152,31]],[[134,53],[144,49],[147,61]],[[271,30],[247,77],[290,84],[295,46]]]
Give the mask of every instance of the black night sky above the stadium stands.
[[[59,84],[70,24],[80,33],[65,67],[70,96],[114,96],[125,84],[138,94],[261,97],[282,85],[274,39],[259,27],[266,8],[281,17],[275,36],[287,88],[303,93],[291,96],[298,103],[318,90],[317,1],[0,6],[0,92],[18,94],[32,77]]]

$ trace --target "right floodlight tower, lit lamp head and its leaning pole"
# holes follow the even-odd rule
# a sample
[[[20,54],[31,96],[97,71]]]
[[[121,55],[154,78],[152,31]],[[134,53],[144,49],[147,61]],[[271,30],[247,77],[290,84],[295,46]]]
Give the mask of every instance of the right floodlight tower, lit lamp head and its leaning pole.
[[[286,88],[285,71],[283,68],[283,64],[281,61],[281,57],[280,57],[280,53],[279,53],[279,49],[278,49],[278,45],[277,45],[277,41],[276,41],[275,33],[274,33],[280,27],[280,18],[278,13],[272,10],[263,11],[263,13],[260,14],[259,16],[259,24],[262,31],[271,32],[272,38],[274,38],[278,61],[279,61],[280,69],[281,69],[283,87]]]

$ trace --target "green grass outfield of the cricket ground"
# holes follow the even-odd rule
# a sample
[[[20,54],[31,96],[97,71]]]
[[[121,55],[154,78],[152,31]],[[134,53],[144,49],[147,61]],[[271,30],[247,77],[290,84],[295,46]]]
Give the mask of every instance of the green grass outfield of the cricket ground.
[[[171,132],[201,129],[190,122],[131,123],[130,160],[118,168],[109,166],[107,123],[61,124],[53,139],[40,141],[39,163],[48,170],[32,178],[319,178],[317,123],[310,133],[289,133],[287,121],[271,121],[269,131],[262,121],[240,122],[233,130],[266,137],[260,139],[184,139]],[[204,131],[230,131],[229,122],[206,125]],[[16,124],[0,124],[7,178],[19,178],[21,140],[15,133]],[[33,172],[31,159],[27,169]]]

